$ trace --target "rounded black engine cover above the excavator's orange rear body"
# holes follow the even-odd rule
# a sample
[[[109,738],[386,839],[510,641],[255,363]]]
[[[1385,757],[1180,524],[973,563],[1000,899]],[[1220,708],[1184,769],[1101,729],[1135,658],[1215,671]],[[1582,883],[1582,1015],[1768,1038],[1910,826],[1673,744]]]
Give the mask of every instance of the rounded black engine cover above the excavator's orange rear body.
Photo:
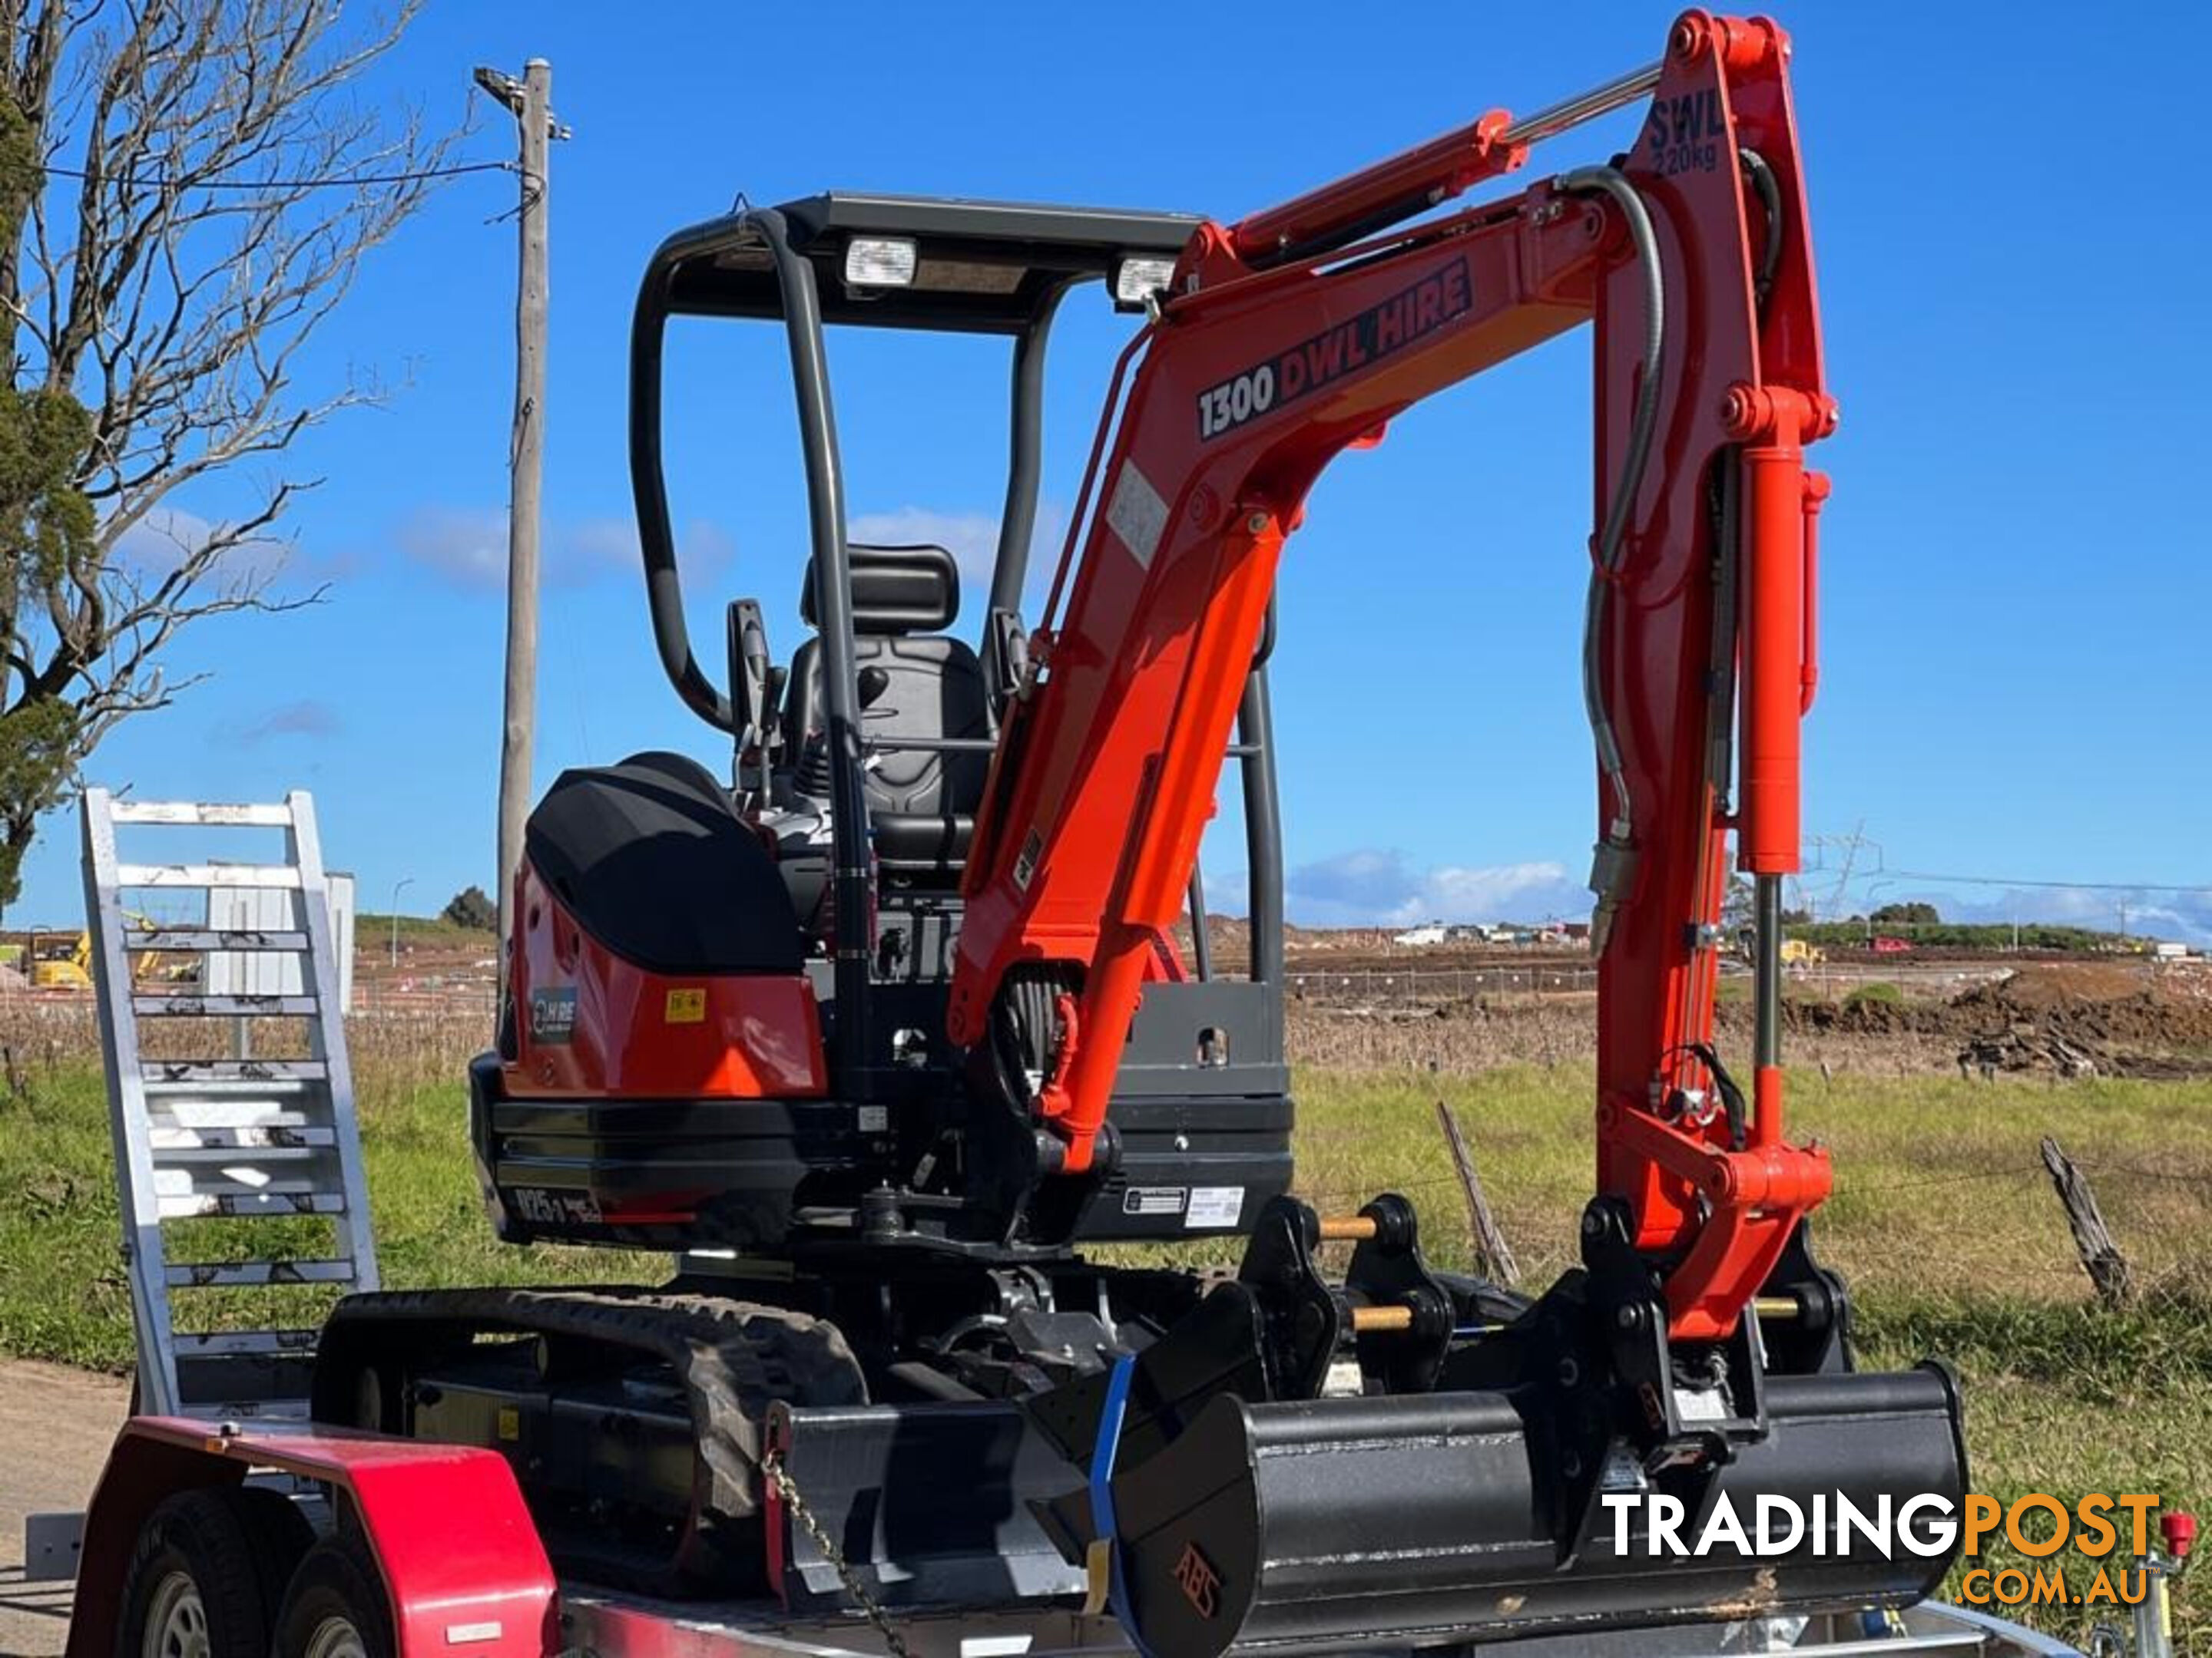
[[[681,754],[562,772],[524,851],[593,940],[648,973],[799,973],[776,862]]]

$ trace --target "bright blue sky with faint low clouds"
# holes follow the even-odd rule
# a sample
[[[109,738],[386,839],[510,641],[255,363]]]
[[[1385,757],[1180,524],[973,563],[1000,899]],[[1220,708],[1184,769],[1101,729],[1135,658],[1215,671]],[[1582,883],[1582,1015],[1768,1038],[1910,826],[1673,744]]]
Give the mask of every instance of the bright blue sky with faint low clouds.
[[[624,462],[624,345],[646,254],[734,195],[821,188],[1157,206],[1290,197],[1489,106],[1528,111],[1657,55],[1666,7],[462,4],[434,0],[376,97],[465,111],[473,64],[555,64],[553,338],[538,772],[639,747],[717,767],[655,665]],[[2212,884],[2212,533],[2192,486],[2212,230],[2188,186],[2212,13],[2126,29],[2022,7],[1796,4],[1796,93],[1840,433],[1823,522],[1823,685],[1807,829],[1863,825],[1891,869]],[[511,148],[476,99],[471,157]],[[1599,159],[1630,117],[1537,153]],[[363,906],[491,880],[513,228],[511,179],[451,183],[380,250],[303,380],[374,369],[385,409],[294,453],[285,619],[217,621],[173,710],[88,776],[146,798],[314,789]],[[1126,323],[1073,305],[1053,349],[1046,522],[1064,524]],[[686,325],[670,374],[695,634],[768,601],[799,639],[805,546],[790,393],[765,329]],[[684,347],[692,347],[686,351]],[[1283,575],[1276,718],[1292,917],[1586,904],[1577,626],[1588,343],[1571,336],[1398,422],[1314,493]],[[1004,349],[832,343],[849,511],[984,544]],[[221,489],[177,506],[217,517]],[[975,615],[973,610],[969,612]],[[971,623],[973,626],[973,623]],[[1865,853],[1874,860],[1876,853]],[[1863,860],[1863,862],[1865,862]],[[1217,842],[1210,869],[1241,869]],[[77,909],[66,814],[13,922]],[[1825,902],[1832,882],[1812,882]],[[1865,884],[1858,886],[1858,893]],[[1944,886],[1880,900],[2212,937],[2212,898]]]

